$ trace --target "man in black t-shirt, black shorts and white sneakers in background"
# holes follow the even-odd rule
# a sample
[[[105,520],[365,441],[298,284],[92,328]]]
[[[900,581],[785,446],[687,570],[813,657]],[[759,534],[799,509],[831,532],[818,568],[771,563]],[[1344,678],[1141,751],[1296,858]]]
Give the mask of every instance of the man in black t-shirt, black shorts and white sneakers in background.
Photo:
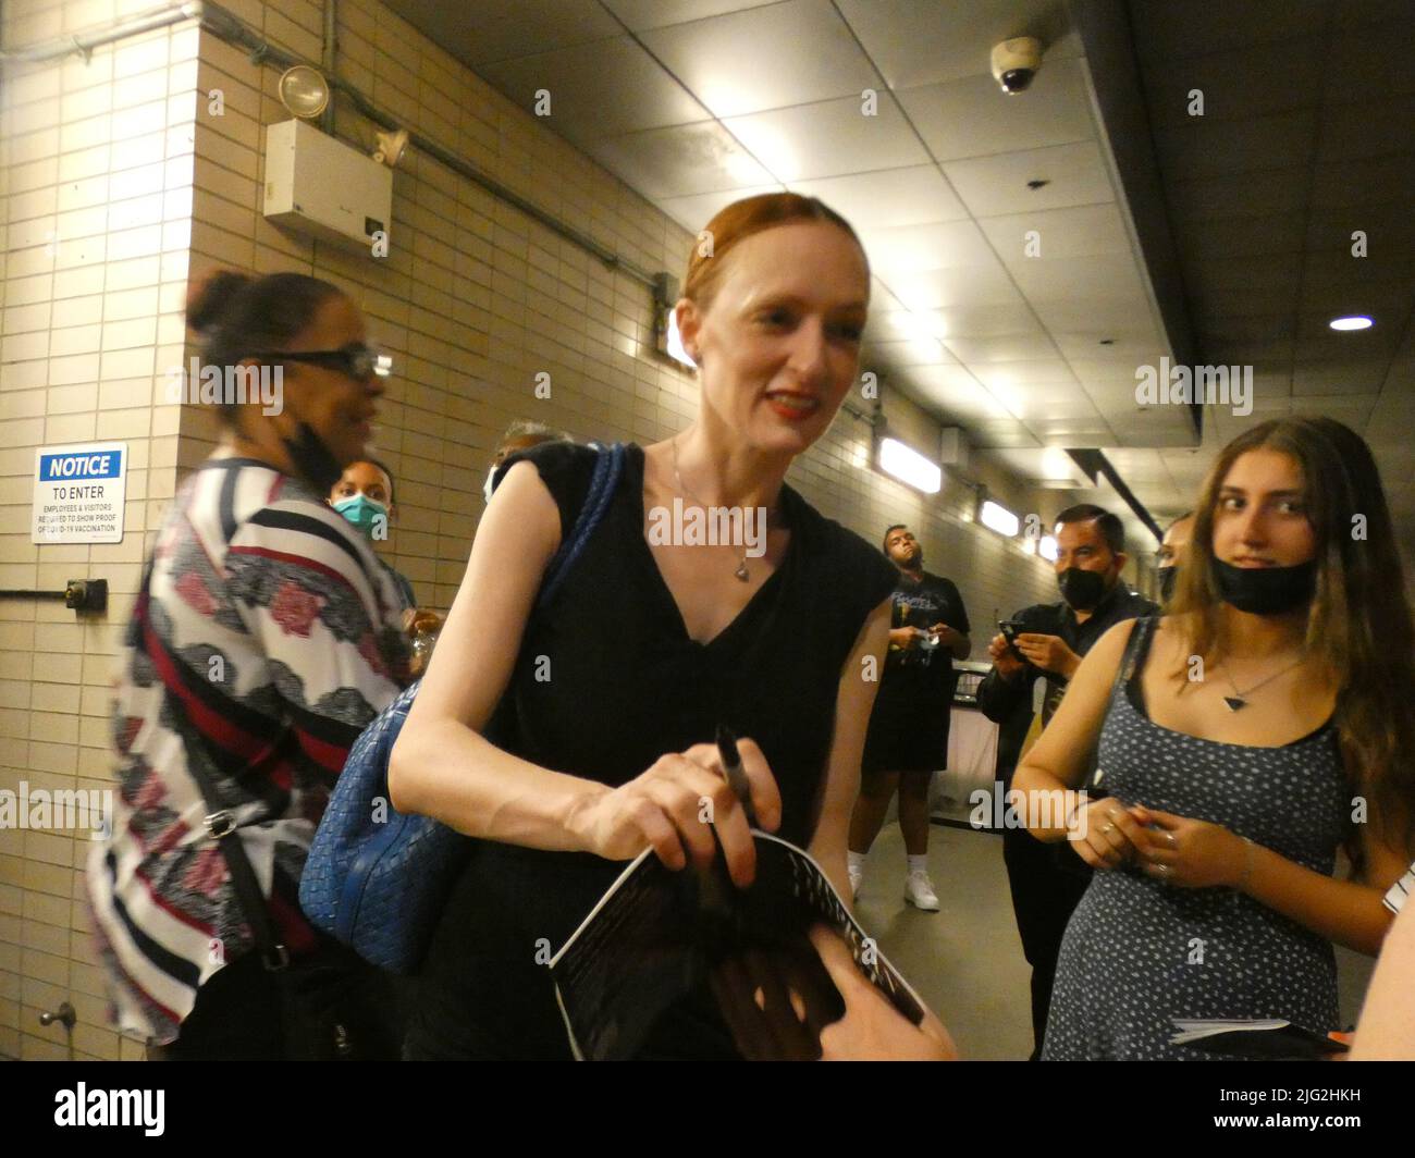
[[[954,660],[968,655],[968,613],[958,587],[924,571],[924,549],[903,524],[884,532],[884,554],[899,568],[889,655],[860,770],[860,798],[850,818],[850,888],[859,892],[865,858],[899,789],[899,827],[908,872],[904,898],[938,910],[928,879],[928,787],[948,764]]]

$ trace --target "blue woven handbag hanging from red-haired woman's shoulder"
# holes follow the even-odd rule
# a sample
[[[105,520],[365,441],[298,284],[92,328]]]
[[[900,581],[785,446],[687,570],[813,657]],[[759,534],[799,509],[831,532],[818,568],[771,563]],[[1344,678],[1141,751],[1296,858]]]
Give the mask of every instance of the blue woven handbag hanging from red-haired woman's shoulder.
[[[535,610],[549,603],[584,549],[623,469],[623,445],[600,449],[584,505],[546,565]],[[300,907],[310,922],[392,973],[417,968],[473,845],[447,825],[389,803],[388,757],[420,685],[403,691],[354,742],[300,878]]]

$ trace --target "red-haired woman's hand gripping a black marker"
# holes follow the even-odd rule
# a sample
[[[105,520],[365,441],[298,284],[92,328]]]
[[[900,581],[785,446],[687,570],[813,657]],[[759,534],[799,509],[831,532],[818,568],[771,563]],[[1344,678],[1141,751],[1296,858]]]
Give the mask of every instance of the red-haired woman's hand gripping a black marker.
[[[767,757],[746,738],[737,740],[737,752],[757,825],[775,831],[781,824],[781,793]],[[706,869],[720,842],[737,888],[750,885],[756,875],[757,852],[747,814],[712,743],[665,753],[627,784],[594,791],[576,806],[567,827],[590,852],[608,861],[628,861],[652,848],[675,871],[685,868],[689,858]]]

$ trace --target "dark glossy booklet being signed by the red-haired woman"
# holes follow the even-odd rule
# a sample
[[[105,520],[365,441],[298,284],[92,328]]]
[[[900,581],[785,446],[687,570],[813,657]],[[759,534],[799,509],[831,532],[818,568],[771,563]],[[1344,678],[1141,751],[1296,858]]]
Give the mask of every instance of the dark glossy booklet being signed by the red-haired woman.
[[[791,991],[804,1002],[805,1024],[838,1021],[845,1007],[811,946],[815,924],[845,940],[862,973],[896,1009],[914,1025],[924,1019],[918,994],[850,916],[809,854],[770,832],[754,828],[751,835],[757,872],[750,888],[732,883],[720,851],[706,873],[674,872],[645,851],[555,954],[550,977],[577,1059],[638,1056],[665,1012],[708,988],[720,1001],[722,978],[744,975],[739,968],[744,961],[771,961],[768,968],[799,978]],[[818,1036],[811,1041],[819,1056]]]

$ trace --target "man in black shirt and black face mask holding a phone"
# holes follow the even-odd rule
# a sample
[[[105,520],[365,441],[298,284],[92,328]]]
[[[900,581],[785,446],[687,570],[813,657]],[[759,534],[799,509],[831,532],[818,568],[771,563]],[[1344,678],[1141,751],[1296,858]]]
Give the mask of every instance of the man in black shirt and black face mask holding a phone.
[[[1013,769],[1039,713],[1034,692],[1041,696],[1040,716],[1046,726],[1081,657],[1097,640],[1122,620],[1157,610],[1121,579],[1126,559],[1125,527],[1116,515],[1091,504],[1068,507],[1056,518],[1056,573],[1063,602],[1017,612],[1009,621],[1013,643],[1003,630],[993,636],[988,646],[993,667],[978,688],[979,711],[999,725],[1002,791],[1012,787]],[[1002,855],[1022,950],[1032,965],[1032,1057],[1036,1060],[1046,1036],[1061,934],[1085,892],[1090,869],[1075,856],[1063,858],[1060,849],[1039,845],[1023,828],[1003,830]]]

